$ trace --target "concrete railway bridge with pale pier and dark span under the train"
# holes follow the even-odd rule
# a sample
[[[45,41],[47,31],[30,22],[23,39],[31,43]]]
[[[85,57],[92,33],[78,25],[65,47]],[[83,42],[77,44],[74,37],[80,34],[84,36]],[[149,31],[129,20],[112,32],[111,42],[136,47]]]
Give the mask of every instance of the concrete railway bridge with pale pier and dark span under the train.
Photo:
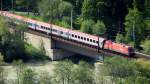
[[[46,55],[52,60],[60,60],[64,57],[81,54],[94,59],[101,59],[103,53],[98,52],[97,49],[93,49],[90,46],[75,43],[67,39],[58,38],[55,36],[48,36],[40,32],[28,30],[25,34],[25,41],[32,44],[36,48],[41,48],[41,44],[44,47]]]

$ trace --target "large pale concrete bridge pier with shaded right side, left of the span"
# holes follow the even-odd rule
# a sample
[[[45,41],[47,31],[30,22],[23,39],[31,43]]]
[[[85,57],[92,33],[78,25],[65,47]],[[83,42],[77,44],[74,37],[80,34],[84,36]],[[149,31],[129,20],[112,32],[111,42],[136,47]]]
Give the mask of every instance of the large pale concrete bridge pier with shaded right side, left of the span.
[[[56,47],[56,42],[55,40],[51,39],[48,36],[42,36],[41,34],[35,34],[34,33],[29,33],[25,32],[25,40],[29,44],[32,44],[34,47],[38,49],[44,49],[46,52],[46,55],[51,58],[51,60],[61,60],[64,57],[69,57],[72,55],[75,55],[75,53],[62,50]]]

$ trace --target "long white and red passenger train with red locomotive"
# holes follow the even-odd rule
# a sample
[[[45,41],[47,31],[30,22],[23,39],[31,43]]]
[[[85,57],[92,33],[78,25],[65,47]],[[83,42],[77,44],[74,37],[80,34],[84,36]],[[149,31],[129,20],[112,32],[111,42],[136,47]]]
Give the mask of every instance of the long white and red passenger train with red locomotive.
[[[77,30],[71,30],[54,24],[30,19],[24,16],[10,13],[8,11],[0,11],[0,15],[5,17],[7,21],[13,20],[15,24],[23,23],[27,25],[29,29],[34,31],[40,31],[48,35],[54,35],[72,41],[77,41],[90,45],[93,48],[109,50],[127,56],[132,56],[135,53],[134,48],[131,46],[123,43],[116,43],[100,36],[90,35]]]

